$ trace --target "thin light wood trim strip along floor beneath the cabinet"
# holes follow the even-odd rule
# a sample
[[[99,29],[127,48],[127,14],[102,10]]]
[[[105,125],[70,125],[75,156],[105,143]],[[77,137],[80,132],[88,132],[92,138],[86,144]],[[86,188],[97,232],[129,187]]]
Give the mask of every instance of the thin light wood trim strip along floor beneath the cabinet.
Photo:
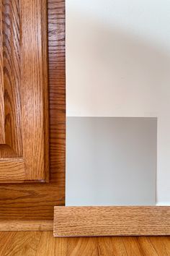
[[[53,221],[0,221],[0,231],[53,231]]]

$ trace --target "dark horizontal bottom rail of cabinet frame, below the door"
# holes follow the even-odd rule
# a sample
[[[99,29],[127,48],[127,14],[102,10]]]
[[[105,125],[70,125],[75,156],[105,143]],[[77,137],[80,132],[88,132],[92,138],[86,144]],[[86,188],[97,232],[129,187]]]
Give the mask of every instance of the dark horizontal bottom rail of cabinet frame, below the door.
[[[54,205],[64,205],[61,181],[0,187],[0,220],[53,220]]]

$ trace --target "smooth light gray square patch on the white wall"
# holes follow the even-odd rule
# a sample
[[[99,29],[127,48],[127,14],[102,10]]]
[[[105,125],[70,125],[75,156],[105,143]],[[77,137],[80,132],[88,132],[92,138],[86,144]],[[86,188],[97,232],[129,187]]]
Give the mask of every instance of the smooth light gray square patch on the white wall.
[[[68,117],[66,205],[155,205],[157,119]]]

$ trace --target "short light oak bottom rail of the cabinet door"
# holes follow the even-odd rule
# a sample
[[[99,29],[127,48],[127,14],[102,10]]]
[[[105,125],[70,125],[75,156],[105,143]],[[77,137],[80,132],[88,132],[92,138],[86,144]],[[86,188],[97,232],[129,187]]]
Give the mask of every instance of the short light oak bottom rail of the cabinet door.
[[[1,158],[0,182],[23,181],[25,179],[24,160],[20,158]]]

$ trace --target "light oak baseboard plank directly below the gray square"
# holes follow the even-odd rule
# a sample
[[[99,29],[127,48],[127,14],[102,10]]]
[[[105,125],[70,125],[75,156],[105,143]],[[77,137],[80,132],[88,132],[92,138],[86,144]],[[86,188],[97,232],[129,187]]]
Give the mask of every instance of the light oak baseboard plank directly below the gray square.
[[[170,207],[54,208],[54,236],[170,235]]]

